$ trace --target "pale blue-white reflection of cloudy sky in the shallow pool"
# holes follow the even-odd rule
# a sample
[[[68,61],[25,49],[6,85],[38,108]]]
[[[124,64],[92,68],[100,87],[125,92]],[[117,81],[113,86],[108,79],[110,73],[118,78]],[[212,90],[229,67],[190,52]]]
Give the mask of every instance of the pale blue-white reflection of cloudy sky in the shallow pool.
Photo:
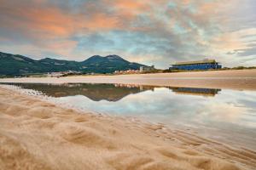
[[[241,96],[244,98],[242,102]],[[154,88],[154,91],[131,94],[116,102],[106,100],[95,102],[84,96],[61,99],[76,107],[82,106],[92,111],[143,116],[156,122],[230,122],[243,126],[256,122],[255,117],[252,116],[256,106],[247,106],[247,102],[253,102],[248,92],[224,90],[214,98],[204,98],[177,95],[168,88]]]

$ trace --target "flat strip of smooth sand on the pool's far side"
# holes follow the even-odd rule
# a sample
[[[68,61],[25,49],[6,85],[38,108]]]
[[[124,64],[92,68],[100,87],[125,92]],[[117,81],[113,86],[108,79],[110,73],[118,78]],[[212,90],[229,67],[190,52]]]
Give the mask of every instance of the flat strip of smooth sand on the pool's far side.
[[[166,87],[223,88],[236,90],[256,90],[256,70],[236,71],[196,71],[159,74],[137,74],[119,76],[82,77],[42,77],[6,78],[0,82],[39,82],[39,83],[123,83]]]

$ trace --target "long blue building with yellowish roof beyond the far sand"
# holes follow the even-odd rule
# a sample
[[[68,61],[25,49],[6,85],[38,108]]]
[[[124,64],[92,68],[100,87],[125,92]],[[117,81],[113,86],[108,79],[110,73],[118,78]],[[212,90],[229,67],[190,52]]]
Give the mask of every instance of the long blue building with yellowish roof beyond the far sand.
[[[198,61],[177,62],[170,70],[210,70],[221,69],[221,65],[215,59],[203,59]]]

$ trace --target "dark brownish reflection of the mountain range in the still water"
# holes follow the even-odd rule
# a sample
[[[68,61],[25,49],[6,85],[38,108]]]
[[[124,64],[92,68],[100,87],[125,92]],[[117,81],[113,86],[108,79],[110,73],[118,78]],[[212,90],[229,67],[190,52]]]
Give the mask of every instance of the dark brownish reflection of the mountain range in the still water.
[[[118,101],[129,94],[137,94],[153,87],[142,87],[119,84],[91,84],[91,83],[66,83],[66,84],[41,84],[41,83],[12,83],[20,88],[33,89],[52,97],[65,97],[84,95],[94,101],[106,99]]]

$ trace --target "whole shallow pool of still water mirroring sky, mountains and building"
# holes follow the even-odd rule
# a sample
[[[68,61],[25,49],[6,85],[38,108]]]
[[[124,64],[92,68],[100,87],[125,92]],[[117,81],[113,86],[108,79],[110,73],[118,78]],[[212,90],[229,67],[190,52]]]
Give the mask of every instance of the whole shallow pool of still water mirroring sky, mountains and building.
[[[136,116],[256,150],[255,91],[83,83],[14,85],[84,111]]]

